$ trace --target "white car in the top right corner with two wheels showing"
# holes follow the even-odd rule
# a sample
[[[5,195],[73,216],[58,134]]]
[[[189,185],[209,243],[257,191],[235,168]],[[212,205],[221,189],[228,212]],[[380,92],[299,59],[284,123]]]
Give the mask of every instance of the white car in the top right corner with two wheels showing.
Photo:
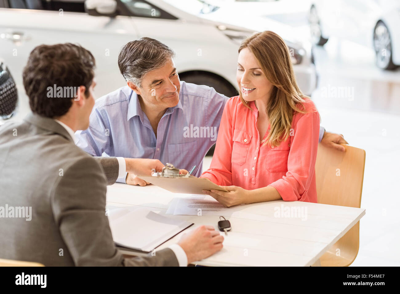
[[[309,22],[316,45],[336,36],[373,48],[381,69],[400,65],[398,0],[313,0]]]

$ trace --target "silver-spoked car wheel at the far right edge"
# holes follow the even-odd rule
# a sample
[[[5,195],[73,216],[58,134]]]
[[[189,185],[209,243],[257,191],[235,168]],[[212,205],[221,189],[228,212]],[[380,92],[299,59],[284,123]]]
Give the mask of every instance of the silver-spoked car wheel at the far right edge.
[[[374,49],[378,68],[394,70],[398,67],[392,61],[392,39],[388,27],[382,21],[378,21],[374,29]]]

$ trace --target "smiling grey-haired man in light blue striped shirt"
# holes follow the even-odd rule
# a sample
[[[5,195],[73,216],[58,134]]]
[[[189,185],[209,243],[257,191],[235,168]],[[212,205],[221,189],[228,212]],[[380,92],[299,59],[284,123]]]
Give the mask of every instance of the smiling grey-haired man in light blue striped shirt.
[[[76,144],[94,156],[152,158],[186,170],[196,165],[192,174],[200,176],[228,97],[180,81],[174,57],[173,50],[151,38],[127,43],[118,56],[127,86],[96,101],[89,128],[76,133]],[[337,134],[324,136],[324,128],[320,142],[322,137],[332,146],[347,143]],[[127,173],[117,182],[148,184]]]

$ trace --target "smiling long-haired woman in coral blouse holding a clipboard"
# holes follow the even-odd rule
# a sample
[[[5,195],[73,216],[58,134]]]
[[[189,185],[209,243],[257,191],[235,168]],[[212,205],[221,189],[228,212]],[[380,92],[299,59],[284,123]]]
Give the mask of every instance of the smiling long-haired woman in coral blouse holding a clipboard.
[[[260,32],[239,48],[240,95],[225,105],[210,169],[229,192],[203,192],[225,206],[272,200],[317,202],[320,116],[297,86],[280,36]]]

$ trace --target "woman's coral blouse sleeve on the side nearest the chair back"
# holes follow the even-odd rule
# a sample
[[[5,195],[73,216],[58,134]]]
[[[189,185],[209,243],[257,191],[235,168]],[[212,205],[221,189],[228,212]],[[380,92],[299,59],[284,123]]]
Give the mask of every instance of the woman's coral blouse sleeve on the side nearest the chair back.
[[[288,172],[286,176],[268,185],[278,190],[285,201],[302,201],[306,198],[315,172],[320,116],[316,110],[298,116],[294,136],[290,140]]]

